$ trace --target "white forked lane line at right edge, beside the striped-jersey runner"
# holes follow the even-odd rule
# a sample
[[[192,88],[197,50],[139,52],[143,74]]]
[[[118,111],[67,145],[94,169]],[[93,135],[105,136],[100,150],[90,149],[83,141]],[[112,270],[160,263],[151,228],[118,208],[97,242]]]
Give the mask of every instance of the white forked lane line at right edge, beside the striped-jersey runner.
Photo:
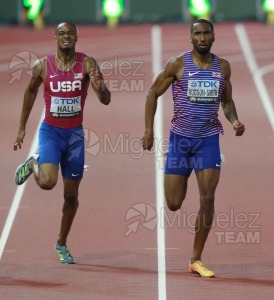
[[[274,131],[274,109],[273,109],[273,105],[269,93],[267,91],[267,88],[263,80],[263,76],[266,73],[274,71],[274,64],[265,66],[263,68],[259,68],[254,53],[252,51],[251,44],[249,42],[248,35],[244,25],[237,24],[235,26],[235,31],[237,33],[238,40],[241,45],[242,51],[244,53],[244,57],[248,65],[249,71],[253,76],[253,81],[255,83],[261,101],[263,103],[266,115],[271,124],[272,130]]]

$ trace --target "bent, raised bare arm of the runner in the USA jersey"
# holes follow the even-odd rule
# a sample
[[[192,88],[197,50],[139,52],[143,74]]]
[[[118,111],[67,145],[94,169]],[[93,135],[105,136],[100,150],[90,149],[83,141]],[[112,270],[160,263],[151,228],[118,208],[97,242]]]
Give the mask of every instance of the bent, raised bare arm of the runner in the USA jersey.
[[[111,101],[111,94],[104,83],[104,77],[99,65],[94,58],[85,58],[86,73],[88,74],[91,86],[101,103],[108,105]]]

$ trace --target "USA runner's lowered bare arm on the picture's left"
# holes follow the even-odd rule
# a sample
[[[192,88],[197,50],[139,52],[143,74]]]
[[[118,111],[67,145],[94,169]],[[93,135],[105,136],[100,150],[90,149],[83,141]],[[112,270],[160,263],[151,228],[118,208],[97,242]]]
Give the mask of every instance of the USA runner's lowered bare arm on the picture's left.
[[[37,60],[32,69],[31,80],[24,93],[23,107],[19,123],[19,130],[16,141],[13,145],[13,150],[21,149],[24,137],[26,135],[26,124],[31,113],[34,101],[36,100],[39,87],[44,78],[44,59]]]

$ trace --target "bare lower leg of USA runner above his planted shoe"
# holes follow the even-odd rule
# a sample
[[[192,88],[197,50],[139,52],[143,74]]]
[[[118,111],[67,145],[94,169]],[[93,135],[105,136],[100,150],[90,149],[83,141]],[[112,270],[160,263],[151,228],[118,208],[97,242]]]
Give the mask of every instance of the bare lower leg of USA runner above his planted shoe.
[[[57,239],[57,244],[60,246],[64,246],[67,243],[67,237],[79,206],[78,188],[80,182],[81,180],[64,178],[63,216],[61,220],[60,233]]]

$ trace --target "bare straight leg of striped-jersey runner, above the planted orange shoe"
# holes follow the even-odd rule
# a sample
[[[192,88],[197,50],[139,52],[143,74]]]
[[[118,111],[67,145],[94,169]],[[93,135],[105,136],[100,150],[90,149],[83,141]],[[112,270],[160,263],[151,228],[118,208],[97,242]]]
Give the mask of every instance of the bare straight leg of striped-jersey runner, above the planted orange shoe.
[[[191,262],[201,260],[201,255],[211,229],[214,217],[215,190],[219,182],[220,171],[205,169],[196,174],[200,192],[200,210],[195,225],[195,239]]]

